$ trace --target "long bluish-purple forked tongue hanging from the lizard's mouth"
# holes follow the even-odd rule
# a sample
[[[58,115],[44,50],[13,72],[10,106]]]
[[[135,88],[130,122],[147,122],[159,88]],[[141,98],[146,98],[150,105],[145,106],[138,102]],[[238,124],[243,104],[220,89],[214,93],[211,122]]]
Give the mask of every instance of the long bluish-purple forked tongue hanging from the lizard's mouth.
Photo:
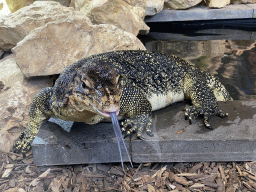
[[[122,141],[122,144],[124,146],[125,152],[126,152],[128,158],[129,158],[131,166],[133,167],[130,155],[129,155],[128,150],[127,150],[127,148],[125,146],[125,143],[124,143],[124,139],[123,139],[123,136],[122,136],[122,132],[121,132],[118,120],[116,118],[116,113],[115,112],[110,112],[109,114],[111,116],[113,128],[114,128],[115,135],[116,135],[116,140],[117,140],[117,145],[118,145],[118,150],[119,150],[119,154],[120,154],[122,168],[124,170],[124,162],[123,162],[123,156],[122,156],[122,151],[121,151],[121,145],[120,145],[121,142],[120,142],[120,140]]]

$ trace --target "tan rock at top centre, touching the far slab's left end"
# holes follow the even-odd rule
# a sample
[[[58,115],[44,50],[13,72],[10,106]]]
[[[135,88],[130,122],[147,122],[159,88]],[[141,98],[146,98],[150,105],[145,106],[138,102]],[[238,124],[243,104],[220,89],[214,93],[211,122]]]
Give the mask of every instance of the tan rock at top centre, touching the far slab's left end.
[[[75,9],[85,13],[93,24],[112,24],[134,35],[147,34],[145,10],[133,7],[123,0],[75,1]]]

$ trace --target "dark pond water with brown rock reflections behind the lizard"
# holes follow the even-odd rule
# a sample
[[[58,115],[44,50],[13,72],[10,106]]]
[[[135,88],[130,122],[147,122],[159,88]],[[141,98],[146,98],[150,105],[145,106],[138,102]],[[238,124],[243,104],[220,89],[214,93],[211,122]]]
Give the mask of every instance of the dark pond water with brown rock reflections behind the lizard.
[[[169,29],[171,30],[171,29]],[[184,30],[183,30],[184,33]],[[256,99],[256,33],[204,29],[182,34],[151,32],[147,50],[177,55],[217,76],[235,99]]]

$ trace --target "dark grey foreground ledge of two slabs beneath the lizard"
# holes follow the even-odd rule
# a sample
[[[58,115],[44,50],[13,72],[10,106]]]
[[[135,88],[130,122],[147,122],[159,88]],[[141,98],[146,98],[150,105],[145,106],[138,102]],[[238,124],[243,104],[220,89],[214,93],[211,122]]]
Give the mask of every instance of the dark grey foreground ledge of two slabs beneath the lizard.
[[[229,117],[212,117],[214,130],[202,119],[192,125],[184,120],[185,103],[154,112],[154,137],[125,139],[133,162],[255,161],[256,101],[219,102]],[[35,165],[120,162],[111,123],[74,123],[64,131],[52,122],[44,124],[32,144]],[[123,149],[124,151],[124,149]],[[124,161],[128,157],[123,156]]]

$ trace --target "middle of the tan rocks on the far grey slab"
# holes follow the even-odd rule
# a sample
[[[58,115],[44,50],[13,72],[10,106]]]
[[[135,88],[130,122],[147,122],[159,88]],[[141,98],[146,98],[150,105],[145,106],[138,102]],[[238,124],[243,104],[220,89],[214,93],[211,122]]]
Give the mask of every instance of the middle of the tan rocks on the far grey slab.
[[[188,9],[202,2],[202,0],[165,0],[167,8]]]

